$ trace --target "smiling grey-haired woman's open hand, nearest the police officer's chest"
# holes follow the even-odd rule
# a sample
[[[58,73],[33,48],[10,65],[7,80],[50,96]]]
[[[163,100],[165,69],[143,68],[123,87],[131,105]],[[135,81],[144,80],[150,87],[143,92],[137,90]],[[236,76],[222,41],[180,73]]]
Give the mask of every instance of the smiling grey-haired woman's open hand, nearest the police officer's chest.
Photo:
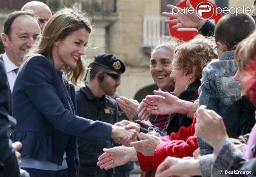
[[[128,119],[130,121],[133,121],[133,117],[140,103],[137,100],[128,99],[126,97],[116,98],[116,101],[119,107],[121,108],[121,110],[123,110],[123,112],[126,114]]]

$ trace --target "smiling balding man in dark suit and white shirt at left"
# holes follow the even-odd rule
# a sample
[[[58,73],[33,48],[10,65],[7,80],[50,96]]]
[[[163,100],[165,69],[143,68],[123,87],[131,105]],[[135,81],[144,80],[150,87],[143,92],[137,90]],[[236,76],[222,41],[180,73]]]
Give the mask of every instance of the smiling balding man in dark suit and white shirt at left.
[[[9,87],[8,112],[10,115],[12,115],[12,89],[17,71],[24,54],[33,45],[39,34],[39,21],[35,14],[29,11],[12,12],[5,20],[4,32],[1,34],[5,53],[0,55],[0,60],[3,61],[7,74]]]

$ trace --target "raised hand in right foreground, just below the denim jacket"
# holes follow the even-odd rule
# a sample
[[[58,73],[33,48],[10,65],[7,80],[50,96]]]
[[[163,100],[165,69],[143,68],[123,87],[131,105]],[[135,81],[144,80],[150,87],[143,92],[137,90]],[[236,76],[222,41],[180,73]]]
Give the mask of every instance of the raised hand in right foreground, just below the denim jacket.
[[[220,141],[228,138],[222,117],[213,110],[206,109],[204,105],[198,108],[195,130],[197,136],[202,138],[213,148],[215,148]]]

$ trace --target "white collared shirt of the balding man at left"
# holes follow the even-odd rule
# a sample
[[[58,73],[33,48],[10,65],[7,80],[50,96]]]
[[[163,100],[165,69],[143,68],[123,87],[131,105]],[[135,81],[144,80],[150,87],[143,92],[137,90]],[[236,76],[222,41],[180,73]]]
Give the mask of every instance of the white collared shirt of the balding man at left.
[[[7,79],[9,82],[9,86],[10,86],[10,90],[12,92],[13,90],[13,86],[14,86],[14,82],[15,79],[17,77],[17,74],[13,71],[14,69],[17,69],[19,67],[17,67],[6,55],[6,53],[4,53],[3,55],[3,60],[4,60],[4,64],[5,64],[5,70],[6,70],[6,74],[7,74]]]

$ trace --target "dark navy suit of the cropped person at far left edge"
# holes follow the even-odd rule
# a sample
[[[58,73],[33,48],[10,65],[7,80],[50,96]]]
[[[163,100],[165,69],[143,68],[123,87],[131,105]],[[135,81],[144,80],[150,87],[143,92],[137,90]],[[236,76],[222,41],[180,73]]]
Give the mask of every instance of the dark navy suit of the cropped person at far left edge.
[[[10,127],[7,118],[8,87],[5,66],[0,60],[0,176],[19,177],[19,165],[12,148],[12,142],[7,136]]]

